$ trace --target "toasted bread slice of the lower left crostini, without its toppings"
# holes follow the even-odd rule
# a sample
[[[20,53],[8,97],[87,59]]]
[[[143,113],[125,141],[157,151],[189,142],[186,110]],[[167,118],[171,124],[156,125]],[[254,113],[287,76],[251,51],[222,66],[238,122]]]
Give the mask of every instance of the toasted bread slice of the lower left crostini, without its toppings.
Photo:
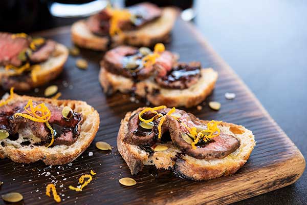
[[[35,146],[32,142],[28,146],[20,145],[21,142],[25,141],[22,136],[19,136],[15,141],[6,138],[0,140],[0,158],[8,157],[13,161],[20,163],[30,163],[42,160],[46,165],[63,165],[73,161],[84,152],[86,148],[90,146],[98,131],[99,114],[93,107],[87,105],[84,101],[56,100],[14,94],[13,100],[18,99],[33,99],[59,107],[69,106],[73,111],[82,113],[83,122],[81,125],[80,135],[78,136],[77,141],[70,146],[57,145],[50,148],[45,146]],[[14,101],[11,102],[13,103]],[[31,138],[33,136],[24,137]]]

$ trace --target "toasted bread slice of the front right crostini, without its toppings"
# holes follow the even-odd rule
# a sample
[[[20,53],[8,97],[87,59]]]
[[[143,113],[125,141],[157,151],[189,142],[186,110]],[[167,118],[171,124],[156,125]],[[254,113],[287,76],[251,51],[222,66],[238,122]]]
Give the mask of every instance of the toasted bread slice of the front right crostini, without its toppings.
[[[172,145],[171,142],[163,144],[168,149],[154,152],[151,156],[137,145],[130,145],[124,142],[124,137],[128,133],[128,121],[130,116],[143,110],[139,108],[133,112],[128,112],[121,121],[121,126],[117,136],[117,148],[123,159],[126,161],[131,174],[135,175],[142,170],[144,165],[156,166],[158,169],[171,169],[176,174],[193,179],[209,180],[221,176],[234,174],[242,167],[249,158],[255,146],[253,133],[240,125],[222,122],[218,128],[221,132],[231,134],[240,141],[240,147],[222,159],[196,159]],[[208,121],[201,120],[204,124]],[[243,131],[242,134],[234,134],[230,127],[235,127]]]

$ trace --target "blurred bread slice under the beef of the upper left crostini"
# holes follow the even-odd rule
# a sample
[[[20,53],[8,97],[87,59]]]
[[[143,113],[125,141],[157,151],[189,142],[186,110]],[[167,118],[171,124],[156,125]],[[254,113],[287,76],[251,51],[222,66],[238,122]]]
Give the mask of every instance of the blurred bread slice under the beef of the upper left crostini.
[[[62,45],[57,44],[55,51],[47,61],[40,63],[41,70],[37,73],[37,81],[21,81],[14,85],[15,90],[30,90],[38,86],[44,85],[49,81],[55,79],[63,70],[63,66],[67,61],[69,55],[68,49]],[[7,74],[4,67],[0,67],[0,84],[2,85],[2,78]],[[6,88],[9,89],[9,88]]]

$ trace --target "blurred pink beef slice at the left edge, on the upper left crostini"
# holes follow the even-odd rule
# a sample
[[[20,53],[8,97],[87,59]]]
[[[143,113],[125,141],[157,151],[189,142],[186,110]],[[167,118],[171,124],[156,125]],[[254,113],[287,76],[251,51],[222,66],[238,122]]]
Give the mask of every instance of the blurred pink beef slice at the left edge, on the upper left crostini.
[[[11,33],[0,32],[0,66],[13,65],[21,66],[18,54],[27,49],[30,45],[28,38],[12,38]]]

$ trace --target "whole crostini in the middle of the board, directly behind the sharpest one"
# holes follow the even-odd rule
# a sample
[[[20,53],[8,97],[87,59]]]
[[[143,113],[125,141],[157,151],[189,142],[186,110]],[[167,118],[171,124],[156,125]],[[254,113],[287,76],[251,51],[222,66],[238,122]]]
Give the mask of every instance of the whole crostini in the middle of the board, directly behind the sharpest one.
[[[199,62],[179,63],[178,56],[159,43],[151,51],[119,46],[100,62],[100,84],[108,95],[134,92],[155,106],[192,107],[213,90],[217,72]]]

